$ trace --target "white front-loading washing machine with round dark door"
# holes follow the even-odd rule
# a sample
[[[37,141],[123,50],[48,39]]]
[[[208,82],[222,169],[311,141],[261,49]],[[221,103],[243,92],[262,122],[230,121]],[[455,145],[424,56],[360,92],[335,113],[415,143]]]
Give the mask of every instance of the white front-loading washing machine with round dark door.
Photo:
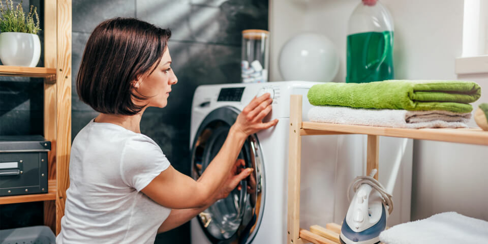
[[[306,120],[307,111],[312,106],[307,92],[314,84],[286,81],[197,87],[190,133],[191,176],[194,179],[198,179],[217,155],[237,115],[255,96],[271,94],[272,111],[264,120],[278,118],[279,122],[246,140],[238,158],[245,160],[246,167],[252,167],[254,171],[241,182],[240,191],[233,190],[227,198],[217,201],[191,221],[193,244],[286,243],[290,95],[302,95],[302,117]],[[386,143],[396,148],[395,143]],[[411,167],[411,155],[410,158],[408,155],[411,148],[406,150],[407,154],[403,148],[402,160]],[[364,163],[361,163],[365,162],[365,151],[365,138],[360,135],[302,138],[302,227],[325,226],[343,220],[349,206],[346,188],[355,176],[365,171]],[[402,196],[405,195],[405,204],[400,207],[403,215],[400,222],[406,222],[410,220],[410,192],[405,190],[409,181],[408,177],[400,177],[399,181],[400,185],[405,185],[400,186]]]

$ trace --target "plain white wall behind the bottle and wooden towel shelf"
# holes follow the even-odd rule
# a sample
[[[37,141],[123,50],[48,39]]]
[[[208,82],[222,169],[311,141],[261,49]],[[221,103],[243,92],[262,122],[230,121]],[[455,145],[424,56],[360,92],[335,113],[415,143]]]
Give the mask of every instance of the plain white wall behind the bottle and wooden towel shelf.
[[[347,20],[359,0],[270,0],[270,80],[281,80],[278,56],[292,36],[312,31],[330,38],[341,56],[335,82],[345,81]],[[461,0],[380,0],[393,16],[397,79],[462,79],[488,90],[488,74],[457,77],[462,53]],[[488,94],[475,104],[488,102]],[[474,121],[470,126],[475,127]],[[433,141],[414,142],[412,220],[438,212],[488,220],[488,147]],[[380,168],[381,171],[381,168]]]

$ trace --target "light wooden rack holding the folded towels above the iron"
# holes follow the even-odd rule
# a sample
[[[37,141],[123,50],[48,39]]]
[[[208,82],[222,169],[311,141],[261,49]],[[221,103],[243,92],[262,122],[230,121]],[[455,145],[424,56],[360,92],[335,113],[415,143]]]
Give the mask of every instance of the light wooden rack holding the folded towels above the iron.
[[[302,122],[302,96],[290,97],[290,142],[288,162],[288,218],[287,243],[302,244],[336,243],[300,229],[300,157],[301,136],[364,134],[368,135],[367,172],[378,169],[379,136],[402,137],[420,140],[446,141],[488,145],[488,131],[481,129],[403,129],[373,126],[353,126],[327,123]],[[378,179],[378,173],[375,175]],[[325,239],[325,240],[324,240]]]

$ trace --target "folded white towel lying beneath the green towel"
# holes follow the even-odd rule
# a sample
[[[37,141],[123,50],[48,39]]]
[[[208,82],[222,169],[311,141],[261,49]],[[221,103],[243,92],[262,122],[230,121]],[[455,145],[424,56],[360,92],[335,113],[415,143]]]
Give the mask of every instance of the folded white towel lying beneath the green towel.
[[[308,116],[313,122],[418,129],[467,128],[471,113],[313,106]]]

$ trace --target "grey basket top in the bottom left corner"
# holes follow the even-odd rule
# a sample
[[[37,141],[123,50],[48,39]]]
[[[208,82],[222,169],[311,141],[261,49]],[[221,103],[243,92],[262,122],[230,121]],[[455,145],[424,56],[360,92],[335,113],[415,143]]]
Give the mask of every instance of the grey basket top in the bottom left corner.
[[[56,236],[47,226],[0,230],[0,244],[55,244]]]

